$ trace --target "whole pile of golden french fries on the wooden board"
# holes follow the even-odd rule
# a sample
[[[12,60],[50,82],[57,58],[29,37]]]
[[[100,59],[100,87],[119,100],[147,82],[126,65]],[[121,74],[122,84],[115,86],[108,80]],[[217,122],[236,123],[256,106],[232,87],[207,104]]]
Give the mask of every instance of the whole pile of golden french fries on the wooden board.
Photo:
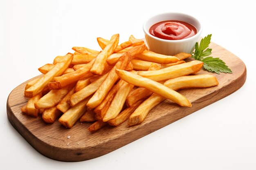
[[[73,47],[73,54],[38,68],[44,75],[27,83],[29,100],[22,112],[33,117],[42,113],[46,123],[58,119],[67,128],[79,119],[93,122],[88,130],[96,132],[127,119],[128,126],[140,124],[165,99],[191,107],[177,90],[218,85],[213,75],[195,75],[203,62],[185,62],[191,54],[157,54],[132,35],[120,45],[119,34],[97,41],[102,51]]]

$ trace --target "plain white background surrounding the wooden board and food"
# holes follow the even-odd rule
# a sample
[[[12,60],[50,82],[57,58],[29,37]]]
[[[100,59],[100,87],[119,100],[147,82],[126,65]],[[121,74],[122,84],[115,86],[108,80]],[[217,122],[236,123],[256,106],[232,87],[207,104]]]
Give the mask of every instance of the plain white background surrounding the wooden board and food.
[[[143,38],[151,15],[182,12],[202,36],[240,57],[247,80],[235,93],[107,155],[81,162],[49,159],[11,126],[6,101],[37,68],[72,46],[98,49],[97,37]],[[0,0],[0,169],[256,169],[255,5],[249,1]],[[221,56],[218,56],[221,57]]]

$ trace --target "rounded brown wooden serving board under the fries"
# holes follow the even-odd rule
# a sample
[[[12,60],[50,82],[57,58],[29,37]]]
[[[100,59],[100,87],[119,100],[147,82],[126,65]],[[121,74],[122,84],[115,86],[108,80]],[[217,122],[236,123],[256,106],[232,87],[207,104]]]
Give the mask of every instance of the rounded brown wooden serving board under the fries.
[[[24,97],[27,81],[10,93],[7,99],[8,119],[31,146],[49,158],[59,161],[83,161],[99,157],[208,106],[243,86],[246,80],[243,61],[217,44],[211,43],[210,47],[213,49],[212,56],[220,57],[233,73],[214,74],[219,81],[218,86],[179,91],[192,103],[191,108],[180,107],[165,100],[151,110],[139,125],[128,127],[125,122],[118,127],[105,126],[96,133],[90,133],[87,128],[91,123],[77,122],[73,128],[67,129],[58,121],[46,124],[40,116],[34,118],[22,114],[20,108],[28,100]],[[213,74],[204,70],[199,74],[202,73]]]

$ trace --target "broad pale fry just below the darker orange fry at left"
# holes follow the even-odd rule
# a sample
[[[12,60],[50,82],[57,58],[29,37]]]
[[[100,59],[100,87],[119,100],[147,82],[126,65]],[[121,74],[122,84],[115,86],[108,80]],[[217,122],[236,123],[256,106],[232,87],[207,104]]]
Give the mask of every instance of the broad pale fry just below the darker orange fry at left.
[[[61,102],[61,99],[74,87],[74,84],[61,88],[59,90],[51,90],[49,93],[35,102],[36,108],[50,108]]]

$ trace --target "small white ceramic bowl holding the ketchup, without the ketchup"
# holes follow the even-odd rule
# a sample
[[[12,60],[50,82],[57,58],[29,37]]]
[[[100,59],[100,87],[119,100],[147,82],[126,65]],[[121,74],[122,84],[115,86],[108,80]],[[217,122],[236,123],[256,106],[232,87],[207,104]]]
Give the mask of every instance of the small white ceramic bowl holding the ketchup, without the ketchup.
[[[192,37],[183,40],[164,40],[149,33],[149,29],[153,24],[165,20],[180,20],[187,22],[195,26],[198,32]],[[183,13],[163,13],[146,20],[143,24],[143,31],[151,51],[164,55],[175,55],[180,52],[191,53],[194,50],[195,43],[198,42],[202,33],[202,26],[197,19],[190,15]]]

